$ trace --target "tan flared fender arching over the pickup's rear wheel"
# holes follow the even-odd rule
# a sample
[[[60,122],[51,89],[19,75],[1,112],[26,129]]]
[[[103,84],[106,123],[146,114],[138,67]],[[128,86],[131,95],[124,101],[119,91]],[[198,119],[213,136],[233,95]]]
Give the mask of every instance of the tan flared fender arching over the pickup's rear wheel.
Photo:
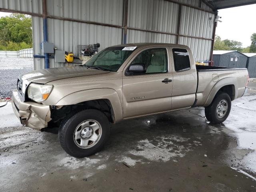
[[[212,103],[212,100],[214,99],[216,93],[224,86],[226,85],[233,85],[235,88],[235,96],[234,99],[237,98],[238,94],[238,86],[237,86],[237,79],[235,77],[227,77],[223,78],[222,80],[219,80],[212,88],[204,106],[209,106]]]

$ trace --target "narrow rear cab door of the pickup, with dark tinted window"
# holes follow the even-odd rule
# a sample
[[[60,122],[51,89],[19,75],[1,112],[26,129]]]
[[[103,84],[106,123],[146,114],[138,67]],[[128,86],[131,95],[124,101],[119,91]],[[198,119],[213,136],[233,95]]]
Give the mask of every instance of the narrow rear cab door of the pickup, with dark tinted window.
[[[197,72],[192,52],[187,47],[170,46],[172,53],[172,110],[191,107],[196,100]]]

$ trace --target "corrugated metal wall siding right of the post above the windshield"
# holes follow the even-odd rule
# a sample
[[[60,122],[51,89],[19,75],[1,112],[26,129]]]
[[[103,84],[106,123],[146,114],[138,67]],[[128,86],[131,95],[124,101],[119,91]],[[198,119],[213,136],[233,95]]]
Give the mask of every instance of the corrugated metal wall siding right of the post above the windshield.
[[[199,1],[180,2],[198,6]],[[209,20],[212,18],[212,20]],[[212,38],[214,14],[182,6],[180,34]],[[149,30],[177,33],[178,4],[164,0],[130,0],[128,4],[128,26]],[[176,43],[176,36],[128,30],[127,42]],[[180,36],[179,44],[191,48],[197,60],[210,58],[211,40]]]

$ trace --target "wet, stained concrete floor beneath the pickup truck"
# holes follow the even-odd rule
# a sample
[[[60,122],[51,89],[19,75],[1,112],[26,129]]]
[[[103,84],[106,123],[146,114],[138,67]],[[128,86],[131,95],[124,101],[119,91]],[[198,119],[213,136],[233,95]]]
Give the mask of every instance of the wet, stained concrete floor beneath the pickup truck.
[[[113,125],[104,150],[82,159],[62,150],[57,129],[18,126],[12,115],[1,109],[0,191],[256,191],[256,90],[220,125],[204,108]]]

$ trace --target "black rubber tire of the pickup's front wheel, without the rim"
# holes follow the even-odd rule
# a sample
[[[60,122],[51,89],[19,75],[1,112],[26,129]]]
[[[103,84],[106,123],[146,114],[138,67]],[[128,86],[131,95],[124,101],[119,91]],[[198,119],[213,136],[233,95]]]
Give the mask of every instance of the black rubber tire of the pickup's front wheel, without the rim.
[[[78,125],[86,120],[96,120],[101,126],[101,137],[90,148],[80,148],[74,139],[74,132]],[[83,129],[83,128],[82,128]],[[58,138],[62,148],[71,156],[82,158],[100,151],[110,134],[110,123],[104,113],[95,109],[82,110],[69,116],[60,124]]]

